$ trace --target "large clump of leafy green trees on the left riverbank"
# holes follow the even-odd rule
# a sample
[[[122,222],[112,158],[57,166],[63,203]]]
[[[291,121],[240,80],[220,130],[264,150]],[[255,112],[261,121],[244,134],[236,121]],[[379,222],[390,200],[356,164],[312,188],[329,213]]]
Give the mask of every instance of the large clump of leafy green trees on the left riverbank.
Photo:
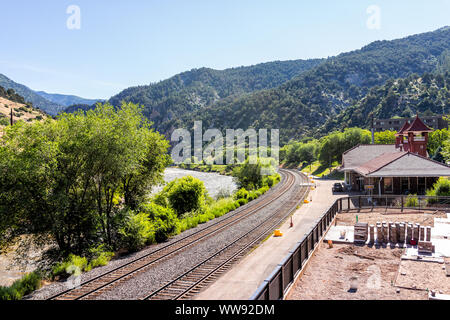
[[[66,255],[102,243],[117,249],[128,221],[123,208],[138,208],[163,181],[167,149],[132,104],[8,127],[0,144],[0,241],[37,234]]]

